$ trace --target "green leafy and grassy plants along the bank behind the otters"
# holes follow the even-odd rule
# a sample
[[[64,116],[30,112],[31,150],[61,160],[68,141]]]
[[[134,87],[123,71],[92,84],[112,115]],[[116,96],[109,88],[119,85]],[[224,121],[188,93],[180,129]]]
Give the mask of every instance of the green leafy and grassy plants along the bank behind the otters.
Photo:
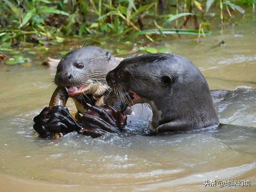
[[[232,21],[233,12],[254,12],[255,0],[0,0],[2,50],[10,44],[44,44],[98,36],[154,42],[168,34],[205,36],[213,21]],[[50,41],[51,40],[51,41]]]

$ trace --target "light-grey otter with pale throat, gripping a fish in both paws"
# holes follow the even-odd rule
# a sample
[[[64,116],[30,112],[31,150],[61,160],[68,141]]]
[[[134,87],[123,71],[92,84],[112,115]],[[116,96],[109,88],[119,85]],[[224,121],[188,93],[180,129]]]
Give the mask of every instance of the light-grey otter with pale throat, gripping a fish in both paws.
[[[66,54],[57,66],[54,79],[57,88],[49,107],[34,118],[33,127],[40,137],[56,138],[74,130],[97,137],[122,129],[127,118],[122,112],[127,104],[120,102],[113,94],[109,95],[105,79],[107,72],[118,63],[110,52],[96,46]],[[68,97],[72,97],[76,104],[78,122],[64,107]],[[110,106],[94,107],[100,107],[104,102]],[[120,108],[120,111],[111,106]]]

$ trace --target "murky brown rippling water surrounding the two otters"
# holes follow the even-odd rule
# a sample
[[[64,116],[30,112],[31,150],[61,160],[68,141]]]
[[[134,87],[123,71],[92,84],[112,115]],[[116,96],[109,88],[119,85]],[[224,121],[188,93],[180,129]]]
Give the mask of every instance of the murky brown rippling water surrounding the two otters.
[[[214,47],[222,39],[226,46]],[[256,127],[254,23],[194,41],[170,38],[156,48],[171,46],[198,66],[211,90],[222,90],[212,91],[220,122]],[[76,133],[38,138],[32,118],[48,105],[53,89],[47,82],[55,73],[37,65],[54,51],[40,54],[30,67],[0,66],[1,191],[256,191],[256,128],[149,137],[142,136],[147,122],[130,117],[124,132],[97,139]],[[76,112],[71,100],[68,108]],[[252,186],[204,187],[206,179],[250,180]]]

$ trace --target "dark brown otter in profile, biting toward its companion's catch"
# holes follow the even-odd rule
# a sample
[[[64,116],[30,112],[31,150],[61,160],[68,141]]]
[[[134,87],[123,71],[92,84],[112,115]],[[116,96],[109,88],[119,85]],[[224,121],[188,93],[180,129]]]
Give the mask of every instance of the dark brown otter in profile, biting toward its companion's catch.
[[[147,54],[128,58],[106,80],[111,88],[133,93],[131,104],[150,104],[150,129],[156,134],[219,124],[204,76],[184,57]]]

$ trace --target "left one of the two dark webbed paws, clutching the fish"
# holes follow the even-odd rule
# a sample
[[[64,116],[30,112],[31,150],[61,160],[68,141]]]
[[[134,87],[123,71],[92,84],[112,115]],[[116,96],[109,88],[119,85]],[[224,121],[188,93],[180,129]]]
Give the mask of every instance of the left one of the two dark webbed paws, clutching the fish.
[[[46,107],[34,118],[34,130],[41,138],[49,138],[53,133],[67,134],[79,132],[82,127],[70,115],[65,106]]]

